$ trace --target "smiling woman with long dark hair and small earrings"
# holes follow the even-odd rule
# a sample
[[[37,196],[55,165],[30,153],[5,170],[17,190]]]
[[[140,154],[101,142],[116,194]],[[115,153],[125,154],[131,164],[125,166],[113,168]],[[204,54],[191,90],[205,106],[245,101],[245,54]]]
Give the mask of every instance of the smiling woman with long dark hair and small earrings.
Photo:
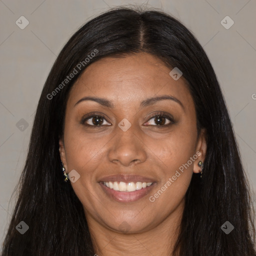
[[[119,7],[49,73],[2,255],[252,256],[249,198],[202,47],[163,12]]]

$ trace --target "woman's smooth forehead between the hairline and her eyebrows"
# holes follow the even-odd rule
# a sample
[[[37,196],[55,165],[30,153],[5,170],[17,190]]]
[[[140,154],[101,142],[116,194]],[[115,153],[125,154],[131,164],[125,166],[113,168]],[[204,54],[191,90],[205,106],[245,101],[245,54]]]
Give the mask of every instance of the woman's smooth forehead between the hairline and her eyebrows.
[[[159,58],[148,53],[105,57],[90,64],[73,85],[69,103],[90,95],[107,97],[114,105],[140,102],[144,98],[168,94],[184,105],[193,104],[186,81],[174,80]]]

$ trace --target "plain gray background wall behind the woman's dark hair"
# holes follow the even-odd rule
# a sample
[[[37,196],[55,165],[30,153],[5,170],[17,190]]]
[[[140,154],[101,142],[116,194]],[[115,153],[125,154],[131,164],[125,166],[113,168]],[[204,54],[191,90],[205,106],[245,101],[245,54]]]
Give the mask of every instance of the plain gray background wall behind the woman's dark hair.
[[[255,0],[0,0],[0,242],[15,203],[12,192],[24,165],[37,101],[57,54],[87,20],[109,7],[141,3],[178,18],[203,46],[222,88],[251,190],[256,191]],[[24,29],[15,23],[21,15],[29,21]],[[226,15],[234,21],[229,29],[220,23]],[[27,127],[16,125],[21,118]]]

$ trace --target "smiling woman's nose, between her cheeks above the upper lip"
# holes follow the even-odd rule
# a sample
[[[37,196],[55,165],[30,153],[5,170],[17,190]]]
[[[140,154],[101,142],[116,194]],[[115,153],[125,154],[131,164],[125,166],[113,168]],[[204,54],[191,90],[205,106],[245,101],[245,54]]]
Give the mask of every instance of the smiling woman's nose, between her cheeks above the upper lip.
[[[116,135],[111,139],[108,159],[123,166],[144,162],[147,157],[145,149],[146,145],[134,133],[132,125],[126,131],[116,127]]]

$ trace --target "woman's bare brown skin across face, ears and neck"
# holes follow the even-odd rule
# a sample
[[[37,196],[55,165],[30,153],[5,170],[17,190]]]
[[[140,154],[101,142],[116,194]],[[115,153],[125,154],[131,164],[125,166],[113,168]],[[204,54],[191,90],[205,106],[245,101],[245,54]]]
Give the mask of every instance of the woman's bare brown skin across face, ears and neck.
[[[184,196],[192,173],[200,171],[197,164],[204,160],[206,141],[204,130],[197,138],[194,102],[185,80],[174,80],[170,70],[148,53],[106,57],[89,65],[70,90],[60,155],[66,173],[75,169],[80,175],[71,185],[84,207],[98,255],[167,255],[176,241]],[[163,94],[177,98],[183,107],[169,99],[139,106],[143,99]],[[84,96],[107,98],[114,107],[92,100],[75,105]],[[159,127],[151,117],[159,111],[171,114],[174,123]],[[101,127],[80,123],[90,112],[106,117]],[[118,127],[123,118],[131,123],[127,131]],[[85,123],[93,124],[92,118]],[[197,151],[201,155],[150,202],[149,196]],[[97,182],[111,174],[139,174],[156,185],[137,201],[118,202]]]

